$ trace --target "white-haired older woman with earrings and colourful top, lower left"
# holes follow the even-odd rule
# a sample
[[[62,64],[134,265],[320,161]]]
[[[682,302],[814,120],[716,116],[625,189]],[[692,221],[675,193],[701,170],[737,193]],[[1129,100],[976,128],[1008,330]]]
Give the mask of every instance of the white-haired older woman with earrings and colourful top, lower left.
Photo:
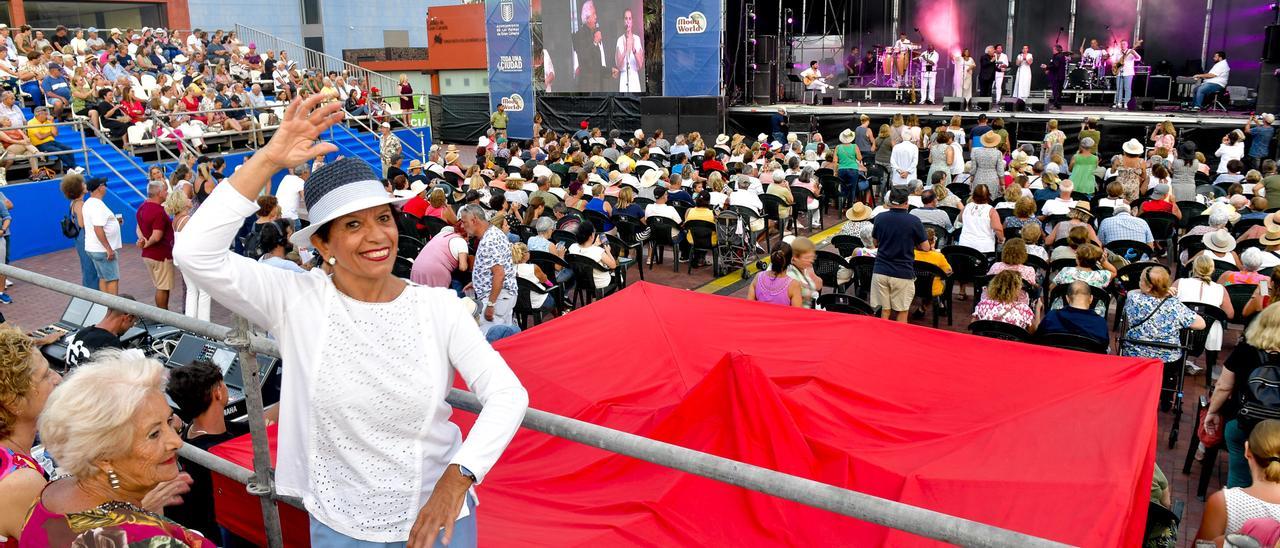
[[[165,376],[160,362],[127,351],[97,356],[54,389],[40,435],[68,475],[40,494],[18,544],[96,545],[110,538],[214,547],[196,530],[141,508],[152,489],[183,478],[182,424],[165,399]]]

